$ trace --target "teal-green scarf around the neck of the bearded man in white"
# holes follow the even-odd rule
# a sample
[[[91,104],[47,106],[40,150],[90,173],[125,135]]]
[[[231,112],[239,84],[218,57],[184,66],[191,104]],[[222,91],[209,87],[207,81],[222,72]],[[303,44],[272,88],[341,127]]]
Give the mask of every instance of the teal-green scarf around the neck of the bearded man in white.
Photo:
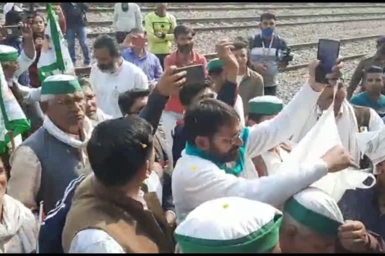
[[[206,160],[212,161],[219,168],[224,169],[226,171],[226,173],[238,176],[243,171],[243,168],[245,166],[244,154],[245,154],[245,145],[246,145],[248,137],[249,137],[249,128],[245,127],[243,129],[242,135],[241,135],[241,138],[243,140],[243,145],[239,148],[240,154],[239,154],[239,157],[237,159],[237,163],[236,163],[234,168],[230,168],[230,167],[226,166],[225,162],[221,162],[214,155],[212,155],[208,152],[205,152],[205,151],[199,149],[198,147],[189,144],[188,142],[186,142],[185,150],[186,150],[186,154],[188,154],[188,155],[195,155],[195,156],[202,157]]]

